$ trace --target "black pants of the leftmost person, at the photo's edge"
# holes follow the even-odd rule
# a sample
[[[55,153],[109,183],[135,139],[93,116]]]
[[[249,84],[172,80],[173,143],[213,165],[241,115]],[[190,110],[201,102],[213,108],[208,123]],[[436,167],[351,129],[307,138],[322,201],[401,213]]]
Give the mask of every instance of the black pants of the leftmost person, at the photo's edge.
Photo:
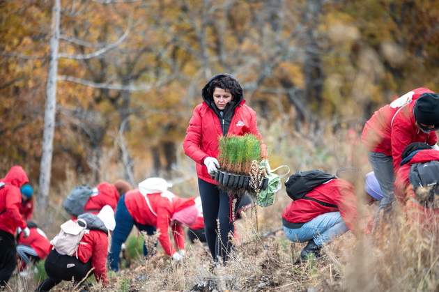
[[[0,230],[0,286],[8,284],[17,263],[14,236]]]

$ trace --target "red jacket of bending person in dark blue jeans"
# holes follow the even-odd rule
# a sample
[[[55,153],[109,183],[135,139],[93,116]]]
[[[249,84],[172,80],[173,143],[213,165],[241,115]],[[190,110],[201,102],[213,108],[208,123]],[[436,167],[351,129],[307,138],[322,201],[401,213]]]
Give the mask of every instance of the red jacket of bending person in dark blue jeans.
[[[167,194],[171,194],[171,192],[167,192]],[[138,189],[130,190],[125,194],[125,205],[134,221],[140,224],[155,226],[157,232],[160,230],[158,240],[160,241],[160,245],[162,245],[164,252],[169,256],[176,252],[176,249],[174,249],[174,246],[171,243],[168,232],[169,225],[172,225],[172,236],[174,237],[176,248],[185,249],[183,226],[180,224],[171,224],[171,217],[179,210],[194,205],[195,198],[183,199],[176,195],[174,195],[174,197],[162,197],[162,194],[160,193],[147,194],[147,196],[151,208],[153,208],[153,211],[157,216],[154,215],[148,207],[144,195],[141,194]]]

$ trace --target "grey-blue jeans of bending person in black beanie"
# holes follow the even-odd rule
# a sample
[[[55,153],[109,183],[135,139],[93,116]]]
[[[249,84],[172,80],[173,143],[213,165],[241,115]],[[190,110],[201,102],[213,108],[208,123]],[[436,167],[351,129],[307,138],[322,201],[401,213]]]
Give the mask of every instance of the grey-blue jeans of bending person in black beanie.
[[[376,180],[380,184],[380,189],[383,192],[383,199],[380,201],[380,206],[376,210],[375,220],[373,220],[372,233],[376,230],[378,226],[380,213],[389,210],[392,206],[392,202],[395,200],[394,193],[394,170],[393,170],[393,158],[392,156],[385,155],[384,153],[367,151],[367,157],[369,158],[369,163],[372,166],[373,172],[375,173]]]

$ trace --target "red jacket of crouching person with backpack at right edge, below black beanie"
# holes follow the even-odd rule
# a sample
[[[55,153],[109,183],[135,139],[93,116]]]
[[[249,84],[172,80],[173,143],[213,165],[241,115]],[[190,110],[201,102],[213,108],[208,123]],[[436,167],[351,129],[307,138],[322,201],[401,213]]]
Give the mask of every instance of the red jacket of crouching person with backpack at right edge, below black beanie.
[[[404,208],[406,213],[418,217],[421,222],[431,222],[433,217],[436,218],[436,220],[439,220],[439,210],[426,209],[424,206],[419,205],[415,200],[412,200],[416,199],[416,196],[413,187],[410,185],[408,174],[412,164],[429,162],[431,160],[439,160],[439,151],[435,149],[426,149],[417,152],[398,170],[394,183],[396,201],[398,201],[399,205]]]

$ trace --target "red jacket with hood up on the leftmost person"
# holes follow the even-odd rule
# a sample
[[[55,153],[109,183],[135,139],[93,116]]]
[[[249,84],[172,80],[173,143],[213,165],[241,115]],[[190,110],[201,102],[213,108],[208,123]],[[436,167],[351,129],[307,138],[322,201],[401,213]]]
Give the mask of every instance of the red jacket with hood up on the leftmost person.
[[[8,174],[0,180],[6,185],[0,189],[0,229],[15,235],[17,227],[26,228],[26,222],[20,214],[22,193],[20,187],[29,183],[26,172],[20,166],[11,167]]]

